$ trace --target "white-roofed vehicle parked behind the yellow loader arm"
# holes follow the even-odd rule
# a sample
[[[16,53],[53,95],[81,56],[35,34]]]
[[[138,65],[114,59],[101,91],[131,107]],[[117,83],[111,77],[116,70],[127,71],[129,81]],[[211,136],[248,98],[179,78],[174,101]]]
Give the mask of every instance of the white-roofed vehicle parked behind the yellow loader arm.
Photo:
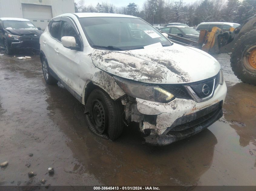
[[[223,32],[230,30],[231,27],[236,28],[240,26],[240,24],[237,23],[225,23],[225,22],[208,22],[208,23],[200,23],[197,25],[195,30],[199,31],[201,29],[205,30],[211,30],[212,27],[218,27],[220,28]]]

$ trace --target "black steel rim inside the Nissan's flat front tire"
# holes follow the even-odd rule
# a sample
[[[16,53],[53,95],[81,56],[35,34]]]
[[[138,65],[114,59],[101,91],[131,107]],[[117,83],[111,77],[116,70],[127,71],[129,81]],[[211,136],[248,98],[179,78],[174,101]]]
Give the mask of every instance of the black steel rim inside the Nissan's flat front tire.
[[[94,124],[95,129],[102,134],[106,129],[106,114],[104,106],[100,100],[94,99],[92,101],[91,108],[92,123]]]

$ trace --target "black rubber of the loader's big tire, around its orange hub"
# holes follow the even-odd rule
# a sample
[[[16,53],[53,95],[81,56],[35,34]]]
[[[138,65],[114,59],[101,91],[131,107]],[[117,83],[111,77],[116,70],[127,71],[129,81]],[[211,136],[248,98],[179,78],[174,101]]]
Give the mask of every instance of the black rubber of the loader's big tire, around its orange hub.
[[[252,74],[252,72],[248,71],[245,73],[245,72],[243,72],[243,70],[241,70],[241,67],[244,67],[243,63],[241,61],[241,59],[243,59],[242,52],[244,51],[244,49],[241,50],[241,47],[242,47],[242,45],[244,45],[244,39],[248,38],[248,37],[256,39],[256,29],[248,31],[247,33],[242,35],[236,41],[236,43],[234,44],[234,47],[232,49],[232,53],[230,56],[230,62],[231,62],[232,71],[234,72],[234,75],[236,75],[238,79],[240,79],[241,81],[243,81],[247,84],[256,85],[256,78],[253,78],[252,75],[250,75],[250,73]],[[254,43],[255,43],[255,41],[254,41]],[[252,43],[251,45],[254,45],[254,44]],[[238,62],[238,60],[239,60],[239,62]]]

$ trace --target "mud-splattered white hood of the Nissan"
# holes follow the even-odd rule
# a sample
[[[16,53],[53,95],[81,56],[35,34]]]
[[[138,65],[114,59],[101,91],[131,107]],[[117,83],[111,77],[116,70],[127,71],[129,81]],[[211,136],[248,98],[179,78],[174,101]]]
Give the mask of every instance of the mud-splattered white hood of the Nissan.
[[[92,61],[96,67],[113,75],[155,84],[200,81],[213,77],[221,69],[211,55],[178,44],[128,51],[97,49]]]

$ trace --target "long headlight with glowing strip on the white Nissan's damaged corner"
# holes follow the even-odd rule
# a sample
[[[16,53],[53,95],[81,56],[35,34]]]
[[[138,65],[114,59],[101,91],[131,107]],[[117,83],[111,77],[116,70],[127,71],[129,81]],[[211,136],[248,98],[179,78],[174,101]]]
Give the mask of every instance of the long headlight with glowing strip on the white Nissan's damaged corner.
[[[170,102],[175,96],[157,85],[114,76],[116,83],[131,97],[155,102]]]

